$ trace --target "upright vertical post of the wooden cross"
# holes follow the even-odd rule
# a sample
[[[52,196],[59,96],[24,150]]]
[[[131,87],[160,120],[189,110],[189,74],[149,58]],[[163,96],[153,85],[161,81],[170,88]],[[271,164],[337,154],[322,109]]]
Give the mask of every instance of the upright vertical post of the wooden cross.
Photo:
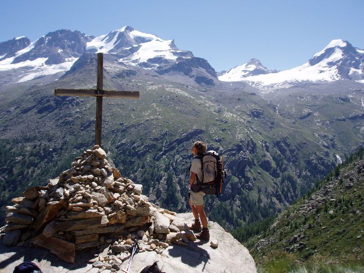
[[[102,131],[102,95],[103,95],[103,58],[102,53],[97,54],[97,85],[96,85],[96,122],[95,122],[95,144],[101,146]]]

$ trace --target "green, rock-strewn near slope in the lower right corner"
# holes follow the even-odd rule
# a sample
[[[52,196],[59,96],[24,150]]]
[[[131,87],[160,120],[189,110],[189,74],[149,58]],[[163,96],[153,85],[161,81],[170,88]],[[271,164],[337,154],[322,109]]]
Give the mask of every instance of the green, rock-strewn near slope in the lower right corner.
[[[277,217],[251,250],[257,264],[266,269],[285,264],[283,271],[299,263],[363,270],[363,154],[362,149],[351,156]]]

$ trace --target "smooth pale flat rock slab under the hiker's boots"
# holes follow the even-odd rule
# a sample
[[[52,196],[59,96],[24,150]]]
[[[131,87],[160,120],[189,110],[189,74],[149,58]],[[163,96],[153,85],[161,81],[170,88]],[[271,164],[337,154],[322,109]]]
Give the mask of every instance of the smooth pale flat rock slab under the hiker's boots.
[[[176,216],[192,223],[192,213],[180,213]],[[130,272],[139,272],[143,265],[158,262],[163,272],[189,273],[256,273],[255,262],[249,251],[232,237],[230,233],[215,222],[210,222],[210,242],[218,242],[218,248],[212,248],[210,242],[189,242],[188,246],[171,245],[161,255],[154,251],[138,253],[134,256]],[[123,262],[128,264],[129,259]],[[122,267],[123,268],[123,267]]]

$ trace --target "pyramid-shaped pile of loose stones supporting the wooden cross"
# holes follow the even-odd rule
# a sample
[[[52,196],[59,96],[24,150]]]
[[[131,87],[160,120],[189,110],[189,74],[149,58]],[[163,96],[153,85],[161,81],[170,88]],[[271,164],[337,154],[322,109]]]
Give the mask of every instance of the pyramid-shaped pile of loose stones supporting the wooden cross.
[[[46,187],[26,190],[6,206],[1,228],[5,245],[40,246],[74,263],[75,252],[98,247],[90,262],[117,271],[128,260],[133,240],[140,252],[161,254],[172,243],[195,241],[185,220],[142,195],[143,186],[123,178],[98,145]]]

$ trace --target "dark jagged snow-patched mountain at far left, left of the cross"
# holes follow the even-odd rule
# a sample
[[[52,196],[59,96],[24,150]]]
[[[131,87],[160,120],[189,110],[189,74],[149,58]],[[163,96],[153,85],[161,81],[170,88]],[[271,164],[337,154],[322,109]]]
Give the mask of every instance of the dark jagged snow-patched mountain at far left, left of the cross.
[[[84,53],[94,37],[79,31],[57,30],[30,42],[26,37],[0,43],[1,83],[24,82],[62,75]]]

